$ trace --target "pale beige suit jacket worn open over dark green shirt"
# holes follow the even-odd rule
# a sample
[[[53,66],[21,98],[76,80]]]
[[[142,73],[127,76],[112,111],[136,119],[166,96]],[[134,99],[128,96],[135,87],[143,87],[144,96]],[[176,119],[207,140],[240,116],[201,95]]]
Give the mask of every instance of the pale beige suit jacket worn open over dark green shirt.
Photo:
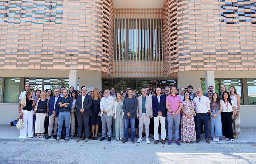
[[[137,116],[140,116],[140,117],[141,117],[141,114],[142,114],[142,98],[143,98],[142,95],[137,98],[137,101],[138,101]],[[147,96],[147,95],[146,95],[145,107],[146,107],[147,117],[153,117],[152,98],[150,96]]]

